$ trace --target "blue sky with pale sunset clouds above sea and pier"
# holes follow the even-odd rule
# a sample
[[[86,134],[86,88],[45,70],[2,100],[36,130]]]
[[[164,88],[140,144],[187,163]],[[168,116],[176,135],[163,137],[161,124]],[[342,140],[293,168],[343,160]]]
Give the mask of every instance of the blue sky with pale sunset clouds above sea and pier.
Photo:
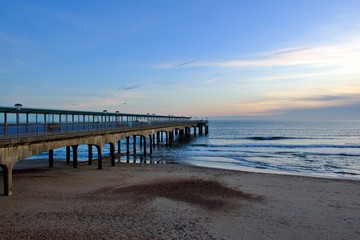
[[[0,1],[0,106],[360,117],[359,0]]]

